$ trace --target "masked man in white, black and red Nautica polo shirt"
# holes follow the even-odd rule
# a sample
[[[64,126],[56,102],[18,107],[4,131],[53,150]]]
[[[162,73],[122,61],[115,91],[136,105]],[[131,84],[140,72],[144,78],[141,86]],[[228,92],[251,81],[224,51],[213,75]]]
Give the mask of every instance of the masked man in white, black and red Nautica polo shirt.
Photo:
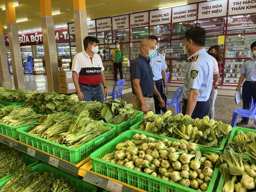
[[[72,63],[72,78],[76,93],[81,101],[100,101],[103,103],[107,97],[107,85],[104,67],[100,56],[97,54],[99,40],[87,36],[83,40],[84,50],[76,54]],[[100,82],[104,86],[104,94]]]

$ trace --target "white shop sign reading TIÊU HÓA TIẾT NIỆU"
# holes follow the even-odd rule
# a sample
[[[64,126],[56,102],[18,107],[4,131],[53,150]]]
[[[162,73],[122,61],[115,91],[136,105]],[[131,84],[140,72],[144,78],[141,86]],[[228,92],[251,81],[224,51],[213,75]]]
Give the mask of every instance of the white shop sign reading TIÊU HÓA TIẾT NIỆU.
[[[215,18],[226,16],[227,14],[227,1],[207,1],[198,4],[198,19]]]

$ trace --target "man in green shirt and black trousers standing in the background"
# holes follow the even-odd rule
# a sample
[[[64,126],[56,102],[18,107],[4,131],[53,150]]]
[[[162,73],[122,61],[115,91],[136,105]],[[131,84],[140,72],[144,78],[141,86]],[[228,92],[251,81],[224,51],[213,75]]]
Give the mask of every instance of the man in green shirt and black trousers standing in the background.
[[[119,70],[120,79],[123,79],[123,72],[122,72],[122,60],[124,59],[124,51],[120,49],[119,42],[115,42],[115,49],[112,51],[112,55],[114,57],[114,73],[115,73],[115,82],[117,81],[117,73]]]

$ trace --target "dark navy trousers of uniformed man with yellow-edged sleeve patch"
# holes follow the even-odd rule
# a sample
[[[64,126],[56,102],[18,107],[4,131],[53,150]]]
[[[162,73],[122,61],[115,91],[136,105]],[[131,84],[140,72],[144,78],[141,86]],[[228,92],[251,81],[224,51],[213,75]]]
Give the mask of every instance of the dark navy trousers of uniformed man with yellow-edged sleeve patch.
[[[186,115],[188,101],[184,101],[183,107],[182,107],[182,114]],[[209,111],[209,101],[196,101],[195,109],[193,110],[193,113],[191,115],[192,119],[202,119],[205,115],[207,115]]]

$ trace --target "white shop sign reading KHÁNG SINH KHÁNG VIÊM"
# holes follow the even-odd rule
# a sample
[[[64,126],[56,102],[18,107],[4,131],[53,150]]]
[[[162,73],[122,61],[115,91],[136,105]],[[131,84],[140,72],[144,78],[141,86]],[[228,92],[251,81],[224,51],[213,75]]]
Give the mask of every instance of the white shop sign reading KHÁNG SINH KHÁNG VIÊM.
[[[197,4],[173,7],[172,22],[187,22],[196,20]],[[193,27],[193,26],[191,26]]]

